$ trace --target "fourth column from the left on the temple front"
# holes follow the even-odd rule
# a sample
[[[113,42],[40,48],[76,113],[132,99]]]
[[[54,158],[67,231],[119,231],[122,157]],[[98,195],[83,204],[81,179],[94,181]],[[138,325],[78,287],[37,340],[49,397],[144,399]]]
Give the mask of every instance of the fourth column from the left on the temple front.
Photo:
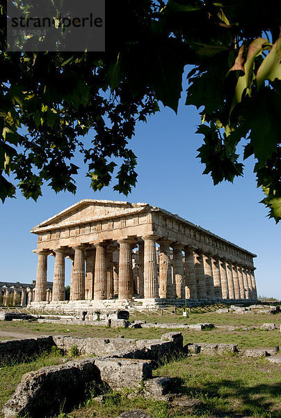
[[[94,285],[94,300],[106,299],[106,244],[104,242],[97,242],[95,244],[95,285]]]

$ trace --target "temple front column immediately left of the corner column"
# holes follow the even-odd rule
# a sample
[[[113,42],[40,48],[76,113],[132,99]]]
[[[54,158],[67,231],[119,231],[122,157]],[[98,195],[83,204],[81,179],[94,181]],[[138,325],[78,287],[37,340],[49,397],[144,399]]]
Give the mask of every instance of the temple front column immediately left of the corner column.
[[[134,295],[133,272],[131,263],[131,240],[118,240],[119,279],[118,299],[132,300]]]

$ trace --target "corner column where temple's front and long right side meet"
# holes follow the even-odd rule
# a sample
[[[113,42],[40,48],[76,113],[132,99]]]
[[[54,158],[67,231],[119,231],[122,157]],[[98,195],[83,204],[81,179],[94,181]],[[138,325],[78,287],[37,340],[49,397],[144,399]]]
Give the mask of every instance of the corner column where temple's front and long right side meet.
[[[155,235],[146,235],[143,237],[145,242],[144,256],[144,293],[145,299],[154,299],[158,297],[158,277],[156,264],[156,240]]]

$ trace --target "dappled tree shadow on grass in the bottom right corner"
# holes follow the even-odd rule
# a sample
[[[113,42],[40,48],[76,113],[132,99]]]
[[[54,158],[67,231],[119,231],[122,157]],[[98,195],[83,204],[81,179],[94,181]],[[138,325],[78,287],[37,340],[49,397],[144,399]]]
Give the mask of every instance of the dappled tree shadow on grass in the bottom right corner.
[[[198,398],[202,403],[193,409],[195,415],[216,417],[281,418],[281,406],[274,401],[281,394],[281,382],[249,386],[243,380],[203,382],[200,389],[188,385],[188,379],[173,378],[177,394]]]

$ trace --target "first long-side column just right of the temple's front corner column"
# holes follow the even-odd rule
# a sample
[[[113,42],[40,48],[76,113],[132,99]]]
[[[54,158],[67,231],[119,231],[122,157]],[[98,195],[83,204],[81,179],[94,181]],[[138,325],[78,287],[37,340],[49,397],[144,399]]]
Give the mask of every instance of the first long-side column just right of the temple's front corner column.
[[[175,297],[170,265],[170,243],[169,240],[159,241],[159,297],[163,299]]]

